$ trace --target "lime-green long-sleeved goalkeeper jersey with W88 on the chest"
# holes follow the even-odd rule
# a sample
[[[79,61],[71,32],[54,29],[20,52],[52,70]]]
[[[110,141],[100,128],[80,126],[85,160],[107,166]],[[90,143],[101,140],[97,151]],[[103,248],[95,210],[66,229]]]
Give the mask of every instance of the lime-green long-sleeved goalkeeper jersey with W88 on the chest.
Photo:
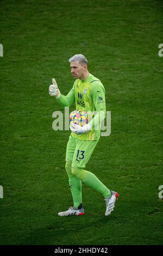
[[[61,94],[58,99],[62,106],[71,106],[72,103],[76,102],[76,109],[83,109],[89,115],[89,112],[103,112],[105,114],[105,89],[103,84],[98,78],[93,75],[89,75],[84,80],[77,79],[70,92],[67,96]],[[91,118],[89,118],[90,123]],[[71,133],[73,137],[78,139],[85,139],[87,141],[97,140],[101,133],[101,123],[99,123],[98,129],[93,127],[92,130],[81,135]]]

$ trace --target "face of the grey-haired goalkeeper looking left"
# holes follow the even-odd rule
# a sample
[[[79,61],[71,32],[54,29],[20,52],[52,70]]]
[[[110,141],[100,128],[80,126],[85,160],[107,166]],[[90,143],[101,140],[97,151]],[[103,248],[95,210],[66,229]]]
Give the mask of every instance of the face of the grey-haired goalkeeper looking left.
[[[80,64],[78,60],[76,62],[71,62],[71,74],[73,75],[74,79],[82,79],[84,75],[84,71],[86,69],[86,65]]]

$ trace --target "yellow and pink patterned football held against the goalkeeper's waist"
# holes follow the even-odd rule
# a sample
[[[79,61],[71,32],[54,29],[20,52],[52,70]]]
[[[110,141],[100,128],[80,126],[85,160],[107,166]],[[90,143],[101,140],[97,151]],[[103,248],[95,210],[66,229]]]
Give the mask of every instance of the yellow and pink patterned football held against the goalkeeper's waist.
[[[88,115],[83,109],[74,110],[70,113],[70,123],[78,124],[80,126],[88,123]]]

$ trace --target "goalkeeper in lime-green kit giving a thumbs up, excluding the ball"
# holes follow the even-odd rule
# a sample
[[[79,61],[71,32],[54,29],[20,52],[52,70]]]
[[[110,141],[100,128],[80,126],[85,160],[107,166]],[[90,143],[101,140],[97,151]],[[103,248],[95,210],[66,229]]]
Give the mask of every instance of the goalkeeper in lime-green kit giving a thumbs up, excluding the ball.
[[[59,212],[59,216],[84,215],[82,203],[82,182],[101,193],[105,199],[105,216],[114,210],[118,193],[109,190],[95,174],[85,170],[95,149],[101,133],[101,121],[105,118],[105,89],[101,81],[87,70],[87,59],[82,54],[76,54],[69,59],[71,73],[75,79],[72,89],[64,96],[58,89],[53,78],[49,86],[49,95],[55,96],[62,107],[70,107],[76,102],[76,109],[87,113],[95,112],[95,116],[84,126],[70,124],[71,135],[66,148],[66,172],[73,198],[73,206]]]

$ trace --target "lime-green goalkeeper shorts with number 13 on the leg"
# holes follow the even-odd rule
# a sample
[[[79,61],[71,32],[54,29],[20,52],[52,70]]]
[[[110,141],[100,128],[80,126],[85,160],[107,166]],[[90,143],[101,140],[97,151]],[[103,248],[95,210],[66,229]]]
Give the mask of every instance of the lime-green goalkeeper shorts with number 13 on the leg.
[[[85,141],[70,135],[66,148],[66,161],[72,162],[73,167],[84,168],[98,141],[99,139],[96,141]]]

